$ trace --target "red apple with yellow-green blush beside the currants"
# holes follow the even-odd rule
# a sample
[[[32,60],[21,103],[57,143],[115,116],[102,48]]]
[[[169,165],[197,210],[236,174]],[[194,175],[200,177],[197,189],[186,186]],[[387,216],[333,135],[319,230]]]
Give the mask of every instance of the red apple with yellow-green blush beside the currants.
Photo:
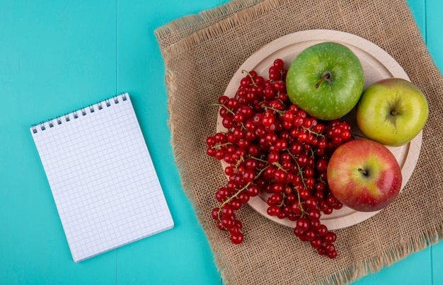
[[[384,209],[401,189],[396,157],[386,146],[369,139],[339,146],[330,157],[327,175],[335,198],[356,211]]]

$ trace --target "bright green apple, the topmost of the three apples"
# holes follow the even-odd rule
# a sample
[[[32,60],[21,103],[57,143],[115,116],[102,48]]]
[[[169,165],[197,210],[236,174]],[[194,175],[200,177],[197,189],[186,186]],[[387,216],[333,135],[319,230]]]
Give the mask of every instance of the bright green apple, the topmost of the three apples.
[[[303,50],[289,66],[289,99],[309,115],[335,120],[357,104],[364,88],[362,64],[348,47],[321,42]]]

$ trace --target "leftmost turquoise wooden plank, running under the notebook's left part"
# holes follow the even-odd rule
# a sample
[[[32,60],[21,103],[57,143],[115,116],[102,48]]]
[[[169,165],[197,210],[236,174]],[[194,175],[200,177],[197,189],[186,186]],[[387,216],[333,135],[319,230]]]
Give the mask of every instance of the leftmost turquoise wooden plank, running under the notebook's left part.
[[[0,2],[0,284],[115,281],[115,251],[73,262],[29,132],[115,93],[110,25],[115,2]]]

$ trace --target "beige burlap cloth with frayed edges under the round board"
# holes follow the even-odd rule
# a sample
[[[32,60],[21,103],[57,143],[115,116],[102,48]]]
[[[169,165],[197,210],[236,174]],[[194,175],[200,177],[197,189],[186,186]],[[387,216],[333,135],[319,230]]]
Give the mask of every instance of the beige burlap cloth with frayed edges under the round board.
[[[371,219],[335,231],[329,260],[291,228],[248,205],[238,211],[245,240],[230,242],[211,218],[215,192],[226,185],[205,139],[238,67],[263,45],[299,30],[341,30],[382,47],[403,66],[430,104],[418,164],[403,192]],[[404,0],[238,0],[180,18],[155,31],[166,66],[169,126],[183,188],[226,284],[346,284],[437,243],[443,235],[443,78]],[[266,76],[266,74],[265,74]]]

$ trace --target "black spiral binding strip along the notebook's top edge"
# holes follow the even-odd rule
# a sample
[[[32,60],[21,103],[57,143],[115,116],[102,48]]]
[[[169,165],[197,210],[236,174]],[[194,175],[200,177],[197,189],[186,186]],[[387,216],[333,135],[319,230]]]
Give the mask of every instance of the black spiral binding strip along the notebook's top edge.
[[[112,98],[107,98],[103,101],[97,102],[96,104],[88,105],[88,107],[83,107],[79,110],[74,110],[70,113],[65,113],[63,116],[56,117],[54,120],[50,119],[47,121],[42,121],[39,124],[33,124],[31,126],[31,130],[33,134],[45,131],[47,127],[52,128],[55,127],[56,125],[70,122],[71,119],[76,120],[80,116],[84,117],[88,115],[88,113],[96,112],[96,110],[103,110],[103,107],[110,107],[111,102],[113,102],[114,105],[118,104],[120,103],[120,98],[121,100],[126,101],[128,96],[129,96],[128,93],[120,93],[120,95],[115,95]]]

